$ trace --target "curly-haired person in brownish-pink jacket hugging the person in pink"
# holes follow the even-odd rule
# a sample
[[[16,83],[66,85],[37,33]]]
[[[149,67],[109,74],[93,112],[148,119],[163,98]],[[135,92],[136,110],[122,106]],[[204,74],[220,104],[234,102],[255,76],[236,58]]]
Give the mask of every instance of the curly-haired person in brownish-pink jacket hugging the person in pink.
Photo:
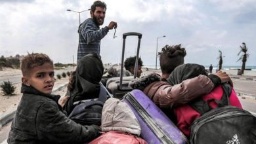
[[[168,114],[172,107],[188,103],[198,96],[208,94],[222,82],[231,81],[226,73],[219,71],[208,77],[199,75],[180,84],[169,84],[166,79],[175,67],[184,64],[184,56],[186,56],[186,50],[181,45],[166,45],[160,54],[162,75],[152,73],[130,82],[129,86],[142,90],[164,113],[167,111],[165,114]]]

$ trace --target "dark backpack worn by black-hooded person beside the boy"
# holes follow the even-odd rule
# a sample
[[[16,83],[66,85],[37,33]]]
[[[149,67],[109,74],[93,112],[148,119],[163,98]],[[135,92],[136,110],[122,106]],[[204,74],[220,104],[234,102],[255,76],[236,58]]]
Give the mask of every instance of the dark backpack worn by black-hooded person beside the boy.
[[[101,113],[106,99],[110,98],[108,92],[103,86],[100,86],[100,94],[96,99],[85,99],[75,101],[74,109],[68,118],[74,120],[78,124],[97,126],[101,125]]]

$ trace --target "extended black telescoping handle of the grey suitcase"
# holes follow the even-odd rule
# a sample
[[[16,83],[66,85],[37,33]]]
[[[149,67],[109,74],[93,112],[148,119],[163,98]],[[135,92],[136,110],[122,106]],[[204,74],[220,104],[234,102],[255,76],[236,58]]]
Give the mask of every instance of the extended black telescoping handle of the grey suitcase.
[[[137,46],[137,55],[136,55],[136,61],[135,61],[135,72],[134,72],[134,79],[137,77],[137,71],[138,71],[138,60],[139,60],[139,52],[140,52],[140,39],[142,37],[141,33],[136,32],[130,32],[130,33],[123,33],[123,50],[122,50],[122,59],[121,59],[121,75],[120,75],[120,84],[119,89],[123,90],[122,84],[123,84],[123,59],[125,55],[125,39],[127,36],[138,36],[138,46]]]

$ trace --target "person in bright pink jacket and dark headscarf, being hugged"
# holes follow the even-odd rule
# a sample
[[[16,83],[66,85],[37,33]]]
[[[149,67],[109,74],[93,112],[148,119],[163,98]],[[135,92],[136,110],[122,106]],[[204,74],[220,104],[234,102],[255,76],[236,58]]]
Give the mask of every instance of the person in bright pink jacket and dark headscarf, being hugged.
[[[176,67],[174,71],[171,73],[171,75],[169,75],[167,82],[171,85],[181,84],[183,81],[186,81],[187,79],[193,79],[194,77],[198,77],[198,75],[207,76],[205,68],[202,65],[198,65],[195,63],[186,63],[184,65],[179,65],[178,67]],[[213,90],[211,90],[209,94],[200,96],[198,99],[202,98],[203,101],[207,101],[208,99],[220,100],[223,96],[223,88],[226,87],[221,85],[216,86]],[[236,96],[234,89],[230,89],[232,89],[230,90],[230,96],[228,96],[228,101],[230,105],[242,108],[242,105],[238,97]],[[195,89],[195,91],[197,90]],[[215,101],[211,101],[209,102],[209,106],[215,108],[217,107],[217,103],[215,103]],[[205,109],[205,107],[202,107],[202,109]],[[184,135],[189,137],[190,126],[192,122],[196,120],[196,118],[200,117],[200,113],[196,113],[196,111],[188,104],[175,107],[173,110],[175,117],[177,118],[178,128],[183,132]]]

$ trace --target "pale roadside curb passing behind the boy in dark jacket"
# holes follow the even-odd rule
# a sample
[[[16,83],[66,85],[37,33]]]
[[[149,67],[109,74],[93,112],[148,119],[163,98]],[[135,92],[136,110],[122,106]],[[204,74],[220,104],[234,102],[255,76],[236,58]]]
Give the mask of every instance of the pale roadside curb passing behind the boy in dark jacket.
[[[54,88],[53,92],[59,91],[62,88],[64,88],[65,86],[67,86],[68,83],[62,84],[61,86],[59,86],[58,88]],[[52,93],[53,93],[52,92]],[[8,124],[9,122],[12,121],[14,115],[16,113],[16,110],[11,111],[10,113],[7,113],[5,115],[0,116],[0,128],[2,128],[3,126],[5,126],[5,124]]]

